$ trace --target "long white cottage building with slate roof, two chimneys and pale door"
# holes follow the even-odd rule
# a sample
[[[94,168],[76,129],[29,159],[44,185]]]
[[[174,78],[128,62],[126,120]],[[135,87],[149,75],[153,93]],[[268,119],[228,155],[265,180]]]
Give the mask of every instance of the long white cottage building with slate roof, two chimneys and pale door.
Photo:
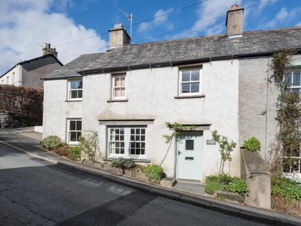
[[[301,49],[301,27],[243,32],[243,12],[237,5],[228,10],[226,34],[142,44],[130,44],[115,25],[107,51],[83,54],[44,77],[43,137],[77,145],[80,134],[98,131],[102,161],[163,161],[168,177],[205,181],[218,171],[219,146],[211,136],[217,129],[237,142],[225,172],[240,175],[243,140],[259,138],[265,157],[274,142],[271,56]],[[300,68],[291,76],[300,91]],[[169,145],[166,122],[195,129]]]

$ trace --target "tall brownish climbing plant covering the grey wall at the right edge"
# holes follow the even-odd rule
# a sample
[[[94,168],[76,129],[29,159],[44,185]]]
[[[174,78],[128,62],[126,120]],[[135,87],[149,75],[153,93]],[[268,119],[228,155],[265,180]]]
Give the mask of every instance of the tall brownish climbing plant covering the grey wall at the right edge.
[[[285,73],[291,63],[295,51],[283,50],[272,55],[270,69],[272,76],[270,81],[279,90],[276,103],[276,121],[278,133],[276,144],[270,151],[269,167],[273,175],[281,175],[283,168],[295,161],[293,158],[286,158],[296,155],[300,151],[301,142],[301,105],[300,93],[289,92],[289,86],[285,81]]]

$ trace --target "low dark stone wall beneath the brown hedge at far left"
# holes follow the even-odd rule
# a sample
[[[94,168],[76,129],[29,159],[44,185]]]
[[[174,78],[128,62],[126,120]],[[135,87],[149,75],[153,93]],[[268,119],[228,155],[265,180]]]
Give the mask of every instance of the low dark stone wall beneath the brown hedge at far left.
[[[0,110],[0,128],[18,128],[42,125],[42,121],[25,118],[17,112]]]

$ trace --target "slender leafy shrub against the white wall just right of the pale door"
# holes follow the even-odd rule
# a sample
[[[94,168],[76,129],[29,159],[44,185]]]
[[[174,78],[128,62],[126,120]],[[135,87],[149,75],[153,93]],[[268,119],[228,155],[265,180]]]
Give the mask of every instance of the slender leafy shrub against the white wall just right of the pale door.
[[[228,138],[226,138],[226,136],[222,136],[218,134],[217,130],[212,132],[212,137],[220,145],[221,160],[220,160],[220,171],[218,174],[222,175],[224,173],[224,163],[226,161],[232,160],[231,151],[235,149],[236,143],[233,140],[231,140],[231,142],[228,142]]]

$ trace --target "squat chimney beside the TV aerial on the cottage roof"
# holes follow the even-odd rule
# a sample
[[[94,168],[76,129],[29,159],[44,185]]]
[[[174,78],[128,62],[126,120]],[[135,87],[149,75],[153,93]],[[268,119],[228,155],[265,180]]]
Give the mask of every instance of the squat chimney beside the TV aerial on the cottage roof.
[[[131,43],[131,37],[127,34],[127,30],[122,27],[122,23],[114,25],[109,29],[109,47],[120,47]]]

